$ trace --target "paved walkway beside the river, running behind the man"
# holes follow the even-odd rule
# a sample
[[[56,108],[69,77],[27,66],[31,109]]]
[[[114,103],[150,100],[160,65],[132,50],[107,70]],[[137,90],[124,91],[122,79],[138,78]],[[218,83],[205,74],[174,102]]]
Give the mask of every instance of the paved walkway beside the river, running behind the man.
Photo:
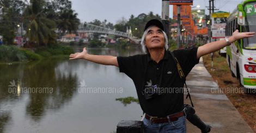
[[[191,89],[196,114],[211,125],[211,132],[253,132],[227,96],[212,93],[211,88],[218,89],[218,84],[206,70],[202,58],[187,76],[186,83]],[[190,103],[189,99],[185,99],[185,103]],[[200,130],[187,121],[187,132]]]

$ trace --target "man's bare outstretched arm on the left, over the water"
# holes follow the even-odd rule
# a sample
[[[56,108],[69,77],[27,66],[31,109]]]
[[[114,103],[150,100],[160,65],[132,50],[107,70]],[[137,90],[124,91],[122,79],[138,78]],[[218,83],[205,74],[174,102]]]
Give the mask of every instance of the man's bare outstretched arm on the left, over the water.
[[[87,49],[83,48],[82,52],[70,54],[69,59],[85,59],[90,62],[102,64],[102,65],[115,65],[118,66],[117,57],[115,56],[103,56],[103,55],[90,55],[87,53]]]

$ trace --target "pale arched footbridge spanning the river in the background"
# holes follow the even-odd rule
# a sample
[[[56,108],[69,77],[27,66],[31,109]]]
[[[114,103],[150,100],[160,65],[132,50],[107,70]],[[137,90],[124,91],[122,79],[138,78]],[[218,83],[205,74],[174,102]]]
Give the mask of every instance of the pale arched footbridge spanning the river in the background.
[[[139,41],[141,41],[141,39],[137,39],[137,37],[132,36],[132,34],[130,33],[112,30],[109,28],[105,28],[102,26],[97,26],[89,23],[80,24],[78,26],[77,32],[88,32],[88,33],[99,33],[99,34],[110,34],[115,36],[121,36],[121,37],[129,38],[131,41],[137,44],[139,43]]]

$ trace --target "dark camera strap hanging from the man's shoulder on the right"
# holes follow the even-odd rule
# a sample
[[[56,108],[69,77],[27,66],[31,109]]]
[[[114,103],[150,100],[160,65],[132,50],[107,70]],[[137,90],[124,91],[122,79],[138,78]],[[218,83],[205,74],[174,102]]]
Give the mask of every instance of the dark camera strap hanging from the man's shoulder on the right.
[[[191,99],[191,96],[190,96],[190,92],[189,92],[188,89],[187,89],[186,78],[185,78],[184,72],[183,72],[182,69],[181,69],[180,63],[179,63],[178,59],[174,56],[174,54],[173,54],[172,51],[170,51],[170,55],[172,55],[172,57],[173,57],[173,59],[174,59],[174,62],[175,62],[175,64],[176,64],[175,66],[176,66],[176,68],[177,68],[177,70],[178,70],[178,72],[179,72],[180,78],[184,80],[185,87],[186,87],[186,90],[187,90],[186,99],[187,99],[187,97],[189,97],[189,98],[190,98],[191,105],[192,105],[192,107],[194,107],[193,102],[192,102],[192,99]]]

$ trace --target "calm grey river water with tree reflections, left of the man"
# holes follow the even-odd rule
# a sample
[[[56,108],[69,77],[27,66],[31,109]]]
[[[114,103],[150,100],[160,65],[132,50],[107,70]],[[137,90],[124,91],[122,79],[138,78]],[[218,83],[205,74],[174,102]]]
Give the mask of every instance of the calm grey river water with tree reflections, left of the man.
[[[130,56],[141,51],[88,49],[88,52]],[[81,82],[92,88],[123,88],[123,93],[81,93],[78,91]],[[68,58],[1,64],[0,132],[111,132],[121,119],[140,119],[139,104],[124,107],[115,101],[127,96],[137,97],[135,87],[115,66]]]

